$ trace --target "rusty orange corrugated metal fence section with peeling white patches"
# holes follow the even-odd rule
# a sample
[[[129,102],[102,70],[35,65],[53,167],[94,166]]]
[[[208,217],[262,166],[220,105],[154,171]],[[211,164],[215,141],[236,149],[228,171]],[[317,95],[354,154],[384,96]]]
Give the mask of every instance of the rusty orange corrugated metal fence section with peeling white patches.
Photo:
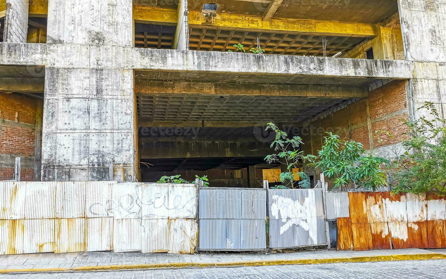
[[[339,250],[446,248],[444,196],[348,192],[348,199],[349,217],[337,219]]]

